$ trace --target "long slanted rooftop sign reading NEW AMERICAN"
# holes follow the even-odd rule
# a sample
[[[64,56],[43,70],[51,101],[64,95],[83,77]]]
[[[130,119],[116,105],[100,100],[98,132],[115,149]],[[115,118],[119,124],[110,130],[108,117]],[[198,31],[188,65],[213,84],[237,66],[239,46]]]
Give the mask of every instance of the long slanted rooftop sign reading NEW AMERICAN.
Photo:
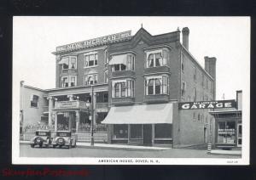
[[[112,34],[105,37],[97,37],[83,42],[75,42],[64,46],[59,46],[56,48],[56,52],[70,51],[80,48],[87,48],[90,46],[96,46],[100,44],[111,43],[119,41],[121,39],[125,39],[126,37],[131,37],[131,31],[119,32],[117,34]]]

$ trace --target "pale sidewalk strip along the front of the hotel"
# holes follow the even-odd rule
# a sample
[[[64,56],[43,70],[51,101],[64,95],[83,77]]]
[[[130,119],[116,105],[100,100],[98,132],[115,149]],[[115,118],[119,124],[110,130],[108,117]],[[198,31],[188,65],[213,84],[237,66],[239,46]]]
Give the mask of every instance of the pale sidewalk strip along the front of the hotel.
[[[20,141],[20,143],[27,143],[29,141]],[[77,147],[86,149],[120,149],[120,150],[166,150],[172,149],[166,147],[154,147],[154,146],[137,146],[137,145],[125,145],[125,144],[109,144],[109,143],[94,143],[91,146],[90,143],[77,142]]]

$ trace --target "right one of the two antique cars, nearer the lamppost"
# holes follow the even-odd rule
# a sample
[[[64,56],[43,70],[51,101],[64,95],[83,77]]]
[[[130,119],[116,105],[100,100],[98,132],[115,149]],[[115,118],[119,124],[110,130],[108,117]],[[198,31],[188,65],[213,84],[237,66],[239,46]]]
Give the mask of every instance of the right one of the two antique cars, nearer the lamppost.
[[[70,131],[57,131],[52,141],[53,148],[67,147],[68,149],[76,147],[77,136]]]

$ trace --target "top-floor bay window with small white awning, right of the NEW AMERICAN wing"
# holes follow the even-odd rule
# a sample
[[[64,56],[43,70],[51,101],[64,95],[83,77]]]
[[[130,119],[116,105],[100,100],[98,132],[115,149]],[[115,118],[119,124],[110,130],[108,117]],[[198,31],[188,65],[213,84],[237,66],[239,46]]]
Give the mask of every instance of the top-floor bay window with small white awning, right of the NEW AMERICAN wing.
[[[113,55],[109,62],[112,71],[134,70],[135,56],[131,53]]]

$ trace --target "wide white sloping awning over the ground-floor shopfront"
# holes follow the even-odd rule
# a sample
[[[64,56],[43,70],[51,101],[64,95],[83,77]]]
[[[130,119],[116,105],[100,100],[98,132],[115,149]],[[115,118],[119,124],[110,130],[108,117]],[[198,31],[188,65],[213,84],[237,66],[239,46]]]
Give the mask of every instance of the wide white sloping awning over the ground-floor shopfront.
[[[112,107],[105,124],[172,124],[173,104],[145,104]]]

